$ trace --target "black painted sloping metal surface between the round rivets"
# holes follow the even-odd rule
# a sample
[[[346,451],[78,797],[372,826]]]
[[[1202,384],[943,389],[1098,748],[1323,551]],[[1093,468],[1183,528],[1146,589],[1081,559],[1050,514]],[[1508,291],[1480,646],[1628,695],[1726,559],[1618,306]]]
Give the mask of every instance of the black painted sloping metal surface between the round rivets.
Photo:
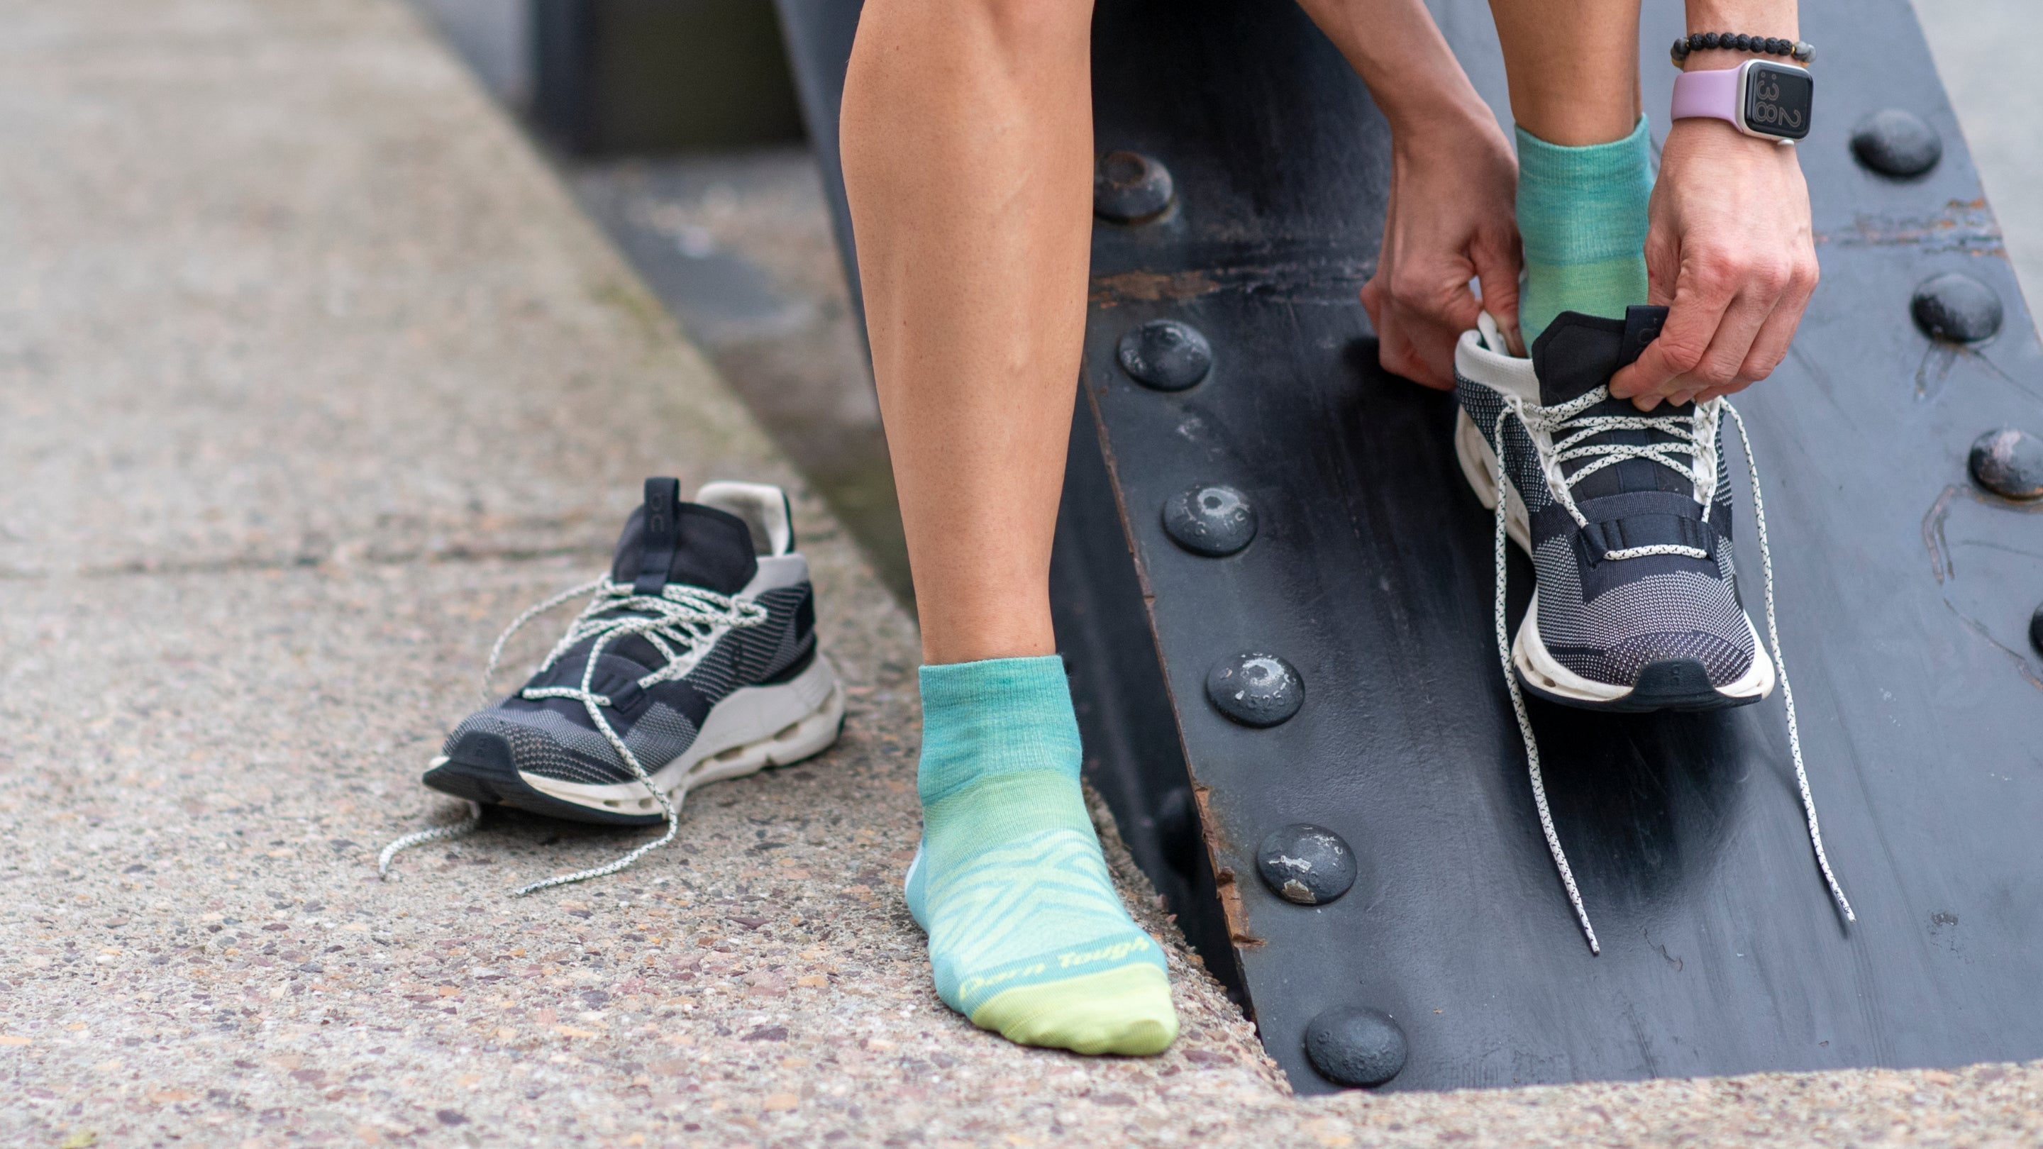
[[[803,4],[829,8],[782,12]],[[1508,117],[1483,4],[1434,8]],[[1408,1043],[1389,1090],[2043,1055],[2043,513],[1967,474],[1982,433],[2043,425],[2043,350],[1906,0],[1802,16],[1831,65],[1800,145],[1824,282],[1739,405],[1859,922],[1814,873],[1777,697],[1702,716],[1534,703],[1591,957],[1534,820],[1453,403],[1375,366],[1355,298],[1389,176],[1381,117],[1287,4],[1101,2],[1097,145],[1158,159],[1175,206],[1095,229],[1058,640],[1087,775],[1299,1090],[1336,1088],[1308,1057],[1314,1018],[1369,1010]],[[1657,135],[1677,22],[1653,6],[1641,29]],[[1880,108],[1920,117],[1941,162],[1908,180],[1861,166],[1851,131]],[[2002,301],[1998,333],[1918,331],[1914,286],[1941,272]],[[1205,333],[1226,370],[1177,393],[1130,378],[1120,339],[1152,319]],[[1248,546],[1171,540],[1158,507],[1195,485],[1256,507]],[[1737,542],[1757,613],[1751,515]],[[1532,574],[1512,562],[1516,613]],[[1287,722],[1211,703],[1207,671],[1244,650],[1281,650],[1310,685]],[[1365,883],[1299,906],[1258,881],[1256,846],[1295,822],[1342,836]]]

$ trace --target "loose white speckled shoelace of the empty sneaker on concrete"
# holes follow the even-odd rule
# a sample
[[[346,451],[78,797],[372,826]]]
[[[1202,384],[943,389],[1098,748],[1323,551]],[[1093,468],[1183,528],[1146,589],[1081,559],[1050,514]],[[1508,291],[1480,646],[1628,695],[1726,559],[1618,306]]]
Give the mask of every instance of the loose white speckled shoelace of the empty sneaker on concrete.
[[[660,814],[666,818],[666,834],[662,834],[658,840],[633,848],[631,853],[613,863],[580,869],[574,873],[562,873],[558,877],[548,877],[543,881],[533,881],[529,885],[519,885],[517,889],[511,891],[513,898],[521,898],[525,893],[533,893],[554,885],[588,881],[590,877],[607,877],[611,873],[627,869],[631,867],[631,863],[639,861],[648,853],[658,851],[660,846],[672,842],[674,834],[680,830],[680,806],[668,799],[668,795],[658,785],[654,785],[652,775],[637,761],[637,754],[631,752],[631,746],[627,746],[625,740],[617,736],[617,730],[611,728],[609,718],[603,716],[603,707],[611,705],[609,695],[599,695],[595,693],[595,689],[590,689],[597,675],[597,658],[603,656],[603,648],[617,642],[619,638],[635,634],[642,636],[646,642],[650,642],[656,650],[660,650],[660,654],[666,658],[666,664],[637,679],[639,689],[650,689],[658,683],[666,683],[686,675],[688,669],[693,667],[693,660],[686,656],[695,650],[705,648],[711,640],[717,638],[719,632],[752,628],[766,622],[766,607],[746,599],[733,599],[729,595],[719,595],[715,591],[705,591],[701,587],[680,587],[674,583],[662,587],[658,595],[639,595],[631,587],[631,583],[613,583],[605,574],[590,583],[582,583],[580,587],[570,587],[554,595],[552,599],[545,599],[543,603],[527,607],[521,615],[511,619],[511,626],[507,626],[505,632],[496,636],[496,644],[490,646],[490,662],[482,671],[484,701],[488,701],[490,697],[488,695],[490,675],[496,673],[496,662],[498,658],[503,658],[505,644],[511,642],[511,636],[523,630],[527,622],[543,615],[545,611],[558,607],[560,603],[566,603],[576,595],[590,591],[592,597],[588,599],[588,605],[582,607],[582,613],[568,628],[568,634],[564,634],[560,642],[554,644],[554,650],[533,671],[533,675],[545,673],[556,662],[560,662],[560,658],[564,658],[570,650],[574,650],[574,646],[578,646],[588,638],[595,638],[595,644],[588,648],[588,656],[582,662],[582,683],[578,687],[529,687],[519,691],[519,697],[531,701],[550,697],[580,701],[582,707],[588,711],[588,720],[595,722],[597,730],[603,732],[603,736],[611,742],[611,748],[615,748],[617,756],[623,759],[625,767],[631,769],[631,775],[637,777],[637,781],[646,785],[646,791],[652,793],[654,801],[660,803]],[[398,851],[423,842],[458,838],[474,830],[480,822],[482,822],[482,808],[470,801],[466,820],[449,826],[435,826],[431,830],[417,830],[384,846],[382,855],[376,859],[376,873],[388,879],[390,859],[394,859]]]

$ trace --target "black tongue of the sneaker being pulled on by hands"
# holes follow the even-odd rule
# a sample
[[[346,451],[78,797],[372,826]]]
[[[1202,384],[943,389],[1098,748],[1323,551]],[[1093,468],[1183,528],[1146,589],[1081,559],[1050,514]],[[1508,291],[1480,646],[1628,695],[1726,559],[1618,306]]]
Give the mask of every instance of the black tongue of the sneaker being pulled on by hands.
[[[1626,307],[1624,319],[1604,319],[1600,315],[1581,315],[1579,311],[1557,315],[1540,331],[1538,339],[1532,341],[1532,372],[1538,376],[1540,405],[1555,407],[1571,399],[1581,399],[1610,382],[1610,376],[1618,374],[1618,368],[1636,360],[1647,350],[1647,343],[1659,337],[1665,321],[1665,307]],[[1692,413],[1692,407],[1661,405],[1651,415],[1645,415],[1628,399],[1604,399],[1585,411],[1585,415],[1643,415],[1649,419],[1655,415],[1677,419]],[[1587,444],[1630,446],[1647,446],[1649,442],[1653,442],[1651,431],[1608,431],[1587,440]],[[1667,440],[1661,438],[1659,442]],[[1569,464],[1569,472],[1579,470],[1585,462]],[[1694,493],[1694,482],[1659,462],[1630,458],[1598,470],[1575,485],[1573,491],[1577,501],[1630,491],[1677,491],[1690,495]]]

